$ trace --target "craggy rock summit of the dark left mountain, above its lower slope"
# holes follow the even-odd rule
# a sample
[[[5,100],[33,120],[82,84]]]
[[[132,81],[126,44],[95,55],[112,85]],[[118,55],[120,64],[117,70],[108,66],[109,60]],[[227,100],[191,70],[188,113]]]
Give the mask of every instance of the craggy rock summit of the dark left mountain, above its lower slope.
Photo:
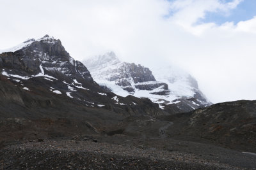
[[[11,53],[10,53],[11,52]],[[15,66],[15,71],[22,76],[42,73],[64,74],[74,78],[93,81],[88,69],[79,61],[70,57],[60,39],[45,35],[40,39],[29,39],[13,48],[4,50],[0,55],[3,67]]]

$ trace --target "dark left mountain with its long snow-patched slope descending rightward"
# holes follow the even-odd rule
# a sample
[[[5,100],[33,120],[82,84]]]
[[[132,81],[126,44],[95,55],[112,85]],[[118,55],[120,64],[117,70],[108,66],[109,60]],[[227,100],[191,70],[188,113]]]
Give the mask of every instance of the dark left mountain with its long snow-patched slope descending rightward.
[[[29,39],[1,52],[0,80],[18,89],[15,92],[7,90],[3,95],[8,99],[15,94],[13,100],[19,100],[22,106],[45,102],[45,105],[54,105],[53,99],[58,97],[81,106],[110,110],[122,115],[166,114],[148,99],[122,97],[106,92],[93,81],[82,62],[70,57],[60,39],[46,35],[40,39]],[[39,97],[27,99],[26,96],[31,95]],[[42,97],[46,99],[42,101]]]

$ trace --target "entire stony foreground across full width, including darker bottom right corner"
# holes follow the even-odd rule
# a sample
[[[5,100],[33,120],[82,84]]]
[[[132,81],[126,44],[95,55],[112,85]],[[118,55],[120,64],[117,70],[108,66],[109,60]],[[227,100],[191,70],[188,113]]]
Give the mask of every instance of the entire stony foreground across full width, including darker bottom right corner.
[[[16,141],[0,169],[253,169],[256,156],[206,143],[124,135]]]

